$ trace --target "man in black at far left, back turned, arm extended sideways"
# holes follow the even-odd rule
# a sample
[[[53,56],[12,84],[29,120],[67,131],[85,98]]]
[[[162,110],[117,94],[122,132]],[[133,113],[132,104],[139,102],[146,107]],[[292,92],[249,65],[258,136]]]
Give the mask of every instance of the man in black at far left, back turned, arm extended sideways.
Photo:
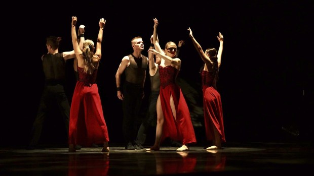
[[[32,126],[31,138],[27,147],[28,150],[33,150],[40,139],[44,120],[48,115],[49,105],[52,101],[57,102],[64,119],[66,132],[68,133],[69,131],[70,105],[64,90],[65,63],[66,60],[74,58],[74,50],[59,53],[61,37],[50,36],[47,37],[46,40],[48,53],[42,56],[45,86],[37,116]]]

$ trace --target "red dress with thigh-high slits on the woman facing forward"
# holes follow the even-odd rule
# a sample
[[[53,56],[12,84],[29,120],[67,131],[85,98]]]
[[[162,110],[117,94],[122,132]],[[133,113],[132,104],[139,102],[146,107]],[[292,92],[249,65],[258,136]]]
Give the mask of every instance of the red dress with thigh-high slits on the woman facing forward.
[[[175,82],[179,70],[172,66],[159,66],[159,73],[161,82],[160,100],[165,118],[162,140],[169,137],[173,140],[181,141],[182,144],[196,143],[188,106],[181,88]],[[176,109],[176,119],[172,114],[170,106],[171,95]]]

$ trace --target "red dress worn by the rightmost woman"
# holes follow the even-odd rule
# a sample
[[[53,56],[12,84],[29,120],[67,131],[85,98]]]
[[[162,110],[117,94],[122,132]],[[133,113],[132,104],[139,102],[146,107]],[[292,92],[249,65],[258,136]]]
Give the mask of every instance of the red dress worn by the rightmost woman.
[[[220,93],[215,89],[216,80],[211,72],[202,72],[204,119],[207,140],[213,140],[211,122],[220,133],[221,140],[226,142],[223,128],[223,115]]]

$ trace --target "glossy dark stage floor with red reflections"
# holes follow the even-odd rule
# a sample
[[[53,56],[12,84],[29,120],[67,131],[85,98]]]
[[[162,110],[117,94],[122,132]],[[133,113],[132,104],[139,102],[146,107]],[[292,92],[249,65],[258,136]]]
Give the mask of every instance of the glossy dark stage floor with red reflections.
[[[223,149],[191,146],[160,151],[126,150],[111,144],[69,153],[66,147],[0,149],[0,175],[302,175],[313,174],[312,143],[226,143]]]

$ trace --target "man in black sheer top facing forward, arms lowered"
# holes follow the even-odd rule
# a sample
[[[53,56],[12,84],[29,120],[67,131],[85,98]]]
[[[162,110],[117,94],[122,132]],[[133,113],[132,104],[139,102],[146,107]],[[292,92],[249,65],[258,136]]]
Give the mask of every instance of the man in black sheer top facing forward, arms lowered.
[[[138,126],[141,123],[139,111],[144,97],[144,83],[148,57],[142,55],[144,43],[142,37],[131,40],[133,53],[122,58],[121,64],[115,74],[117,97],[123,100],[123,135],[128,150],[142,149],[136,143]],[[125,81],[121,87],[121,76],[125,72]]]

